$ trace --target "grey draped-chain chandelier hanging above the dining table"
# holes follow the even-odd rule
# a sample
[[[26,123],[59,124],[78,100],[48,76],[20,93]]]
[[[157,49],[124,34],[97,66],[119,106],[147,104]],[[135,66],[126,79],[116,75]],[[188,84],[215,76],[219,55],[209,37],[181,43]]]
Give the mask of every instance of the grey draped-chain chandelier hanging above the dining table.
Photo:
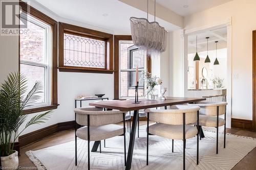
[[[131,33],[134,45],[147,54],[159,54],[166,50],[167,31],[156,22],[156,0],[155,0],[155,20],[148,21],[148,0],[147,18],[131,17]]]

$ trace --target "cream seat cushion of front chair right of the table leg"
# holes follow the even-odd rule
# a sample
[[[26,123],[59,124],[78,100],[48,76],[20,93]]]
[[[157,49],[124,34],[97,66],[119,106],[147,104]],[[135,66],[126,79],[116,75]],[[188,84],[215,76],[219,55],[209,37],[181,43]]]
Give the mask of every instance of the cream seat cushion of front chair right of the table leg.
[[[169,139],[183,139],[183,125],[166,125],[154,124],[149,127],[150,134],[169,138]],[[191,138],[197,135],[197,128],[191,125],[185,126],[185,138]]]

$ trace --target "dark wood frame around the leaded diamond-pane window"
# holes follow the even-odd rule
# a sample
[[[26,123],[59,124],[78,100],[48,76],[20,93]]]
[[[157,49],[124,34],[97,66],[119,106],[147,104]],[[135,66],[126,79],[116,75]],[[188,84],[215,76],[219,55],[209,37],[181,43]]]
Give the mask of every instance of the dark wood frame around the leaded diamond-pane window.
[[[76,67],[76,66],[65,66],[64,65],[64,50],[63,50],[63,35],[69,33],[78,36],[84,36],[106,42],[106,53],[105,53],[105,68],[91,68],[91,67]],[[113,35],[95,31],[83,27],[70,25],[68,23],[59,22],[59,71],[68,72],[94,72],[101,74],[113,74]]]

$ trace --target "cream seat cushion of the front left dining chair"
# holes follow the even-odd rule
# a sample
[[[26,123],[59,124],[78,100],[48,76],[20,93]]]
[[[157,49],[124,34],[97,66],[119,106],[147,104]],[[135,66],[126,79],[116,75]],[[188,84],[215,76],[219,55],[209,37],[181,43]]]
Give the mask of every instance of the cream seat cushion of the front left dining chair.
[[[88,140],[87,127],[77,129],[76,135],[80,139]],[[90,141],[108,139],[123,134],[123,126],[110,124],[99,127],[90,127]]]

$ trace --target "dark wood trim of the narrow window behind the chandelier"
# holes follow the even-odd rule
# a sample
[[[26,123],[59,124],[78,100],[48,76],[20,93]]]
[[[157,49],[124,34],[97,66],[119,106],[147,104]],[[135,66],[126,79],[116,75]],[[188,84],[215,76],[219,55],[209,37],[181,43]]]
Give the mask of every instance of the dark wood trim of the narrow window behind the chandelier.
[[[119,41],[132,41],[131,35],[114,36],[114,100],[119,100]],[[147,71],[151,72],[151,57],[146,59]]]

